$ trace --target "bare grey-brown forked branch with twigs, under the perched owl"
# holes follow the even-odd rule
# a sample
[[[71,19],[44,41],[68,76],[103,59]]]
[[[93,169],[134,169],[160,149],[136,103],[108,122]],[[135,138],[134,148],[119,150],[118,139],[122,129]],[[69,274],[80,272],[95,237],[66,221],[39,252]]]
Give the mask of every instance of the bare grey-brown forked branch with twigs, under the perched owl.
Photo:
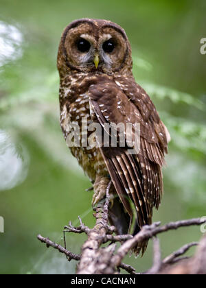
[[[80,225],[72,226],[69,222],[65,226],[64,235],[67,232],[85,233],[87,241],[82,245],[81,254],[73,254],[62,246],[52,242],[49,238],[44,238],[38,235],[38,240],[46,243],[47,247],[53,247],[59,252],[65,254],[67,259],[80,261],[77,267],[77,274],[117,274],[119,268],[126,270],[130,274],[138,274],[135,268],[122,263],[124,257],[132,248],[139,242],[148,239],[153,239],[153,265],[144,274],[206,274],[206,237],[200,244],[196,242],[184,245],[182,248],[173,252],[165,259],[161,260],[161,249],[157,235],[176,230],[181,227],[201,225],[206,223],[206,219],[189,219],[176,222],[170,222],[160,226],[160,222],[150,226],[144,226],[141,231],[133,235],[113,235],[115,227],[108,225],[108,205],[110,202],[109,189],[111,182],[106,189],[106,199],[102,200],[97,208],[95,208],[94,217],[96,219],[95,226],[91,229],[82,223],[79,217]],[[116,248],[116,242],[121,243],[120,247]],[[102,247],[102,244],[104,247]],[[197,252],[194,257],[187,259],[183,256],[193,246],[198,245]],[[182,257],[181,257],[182,256]]]

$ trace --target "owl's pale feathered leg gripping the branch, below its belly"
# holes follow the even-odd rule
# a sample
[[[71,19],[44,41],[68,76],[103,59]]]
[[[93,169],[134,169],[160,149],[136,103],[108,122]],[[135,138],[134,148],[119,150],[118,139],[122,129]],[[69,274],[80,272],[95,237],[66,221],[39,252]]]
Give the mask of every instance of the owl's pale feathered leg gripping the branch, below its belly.
[[[100,202],[106,195],[106,189],[110,180],[105,176],[98,176],[93,184],[93,199],[92,206],[94,207],[98,202]]]

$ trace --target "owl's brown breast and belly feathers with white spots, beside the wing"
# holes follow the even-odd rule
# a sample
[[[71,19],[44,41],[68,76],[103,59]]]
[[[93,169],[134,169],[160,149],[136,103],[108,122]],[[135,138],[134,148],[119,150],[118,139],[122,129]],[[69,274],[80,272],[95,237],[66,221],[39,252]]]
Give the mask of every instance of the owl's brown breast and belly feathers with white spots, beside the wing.
[[[67,137],[72,132],[72,124],[77,124],[80,128],[79,143],[80,145],[70,147],[71,153],[78,160],[79,165],[84,173],[92,182],[95,181],[96,174],[108,176],[108,171],[102,158],[100,149],[96,147],[83,147],[82,145],[82,119],[87,119],[87,125],[92,123],[89,105],[89,86],[95,77],[87,76],[85,73],[78,75],[67,75],[60,82],[60,125],[63,135],[67,141]],[[92,134],[87,131],[87,138]]]

